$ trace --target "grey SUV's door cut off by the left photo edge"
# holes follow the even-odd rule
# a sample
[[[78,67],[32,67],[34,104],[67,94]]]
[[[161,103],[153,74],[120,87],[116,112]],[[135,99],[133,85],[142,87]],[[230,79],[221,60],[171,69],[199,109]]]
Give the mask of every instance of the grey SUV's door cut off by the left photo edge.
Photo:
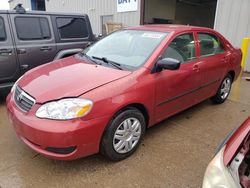
[[[0,14],[0,83],[14,81],[19,73],[7,14]]]

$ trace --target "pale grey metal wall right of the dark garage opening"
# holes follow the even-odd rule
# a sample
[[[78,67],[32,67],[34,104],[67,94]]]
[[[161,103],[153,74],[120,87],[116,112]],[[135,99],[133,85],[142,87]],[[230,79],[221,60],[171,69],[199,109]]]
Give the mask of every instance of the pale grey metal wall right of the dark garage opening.
[[[217,3],[214,28],[236,47],[241,47],[244,37],[250,38],[249,7],[249,0],[218,0]],[[245,70],[250,71],[250,49]]]

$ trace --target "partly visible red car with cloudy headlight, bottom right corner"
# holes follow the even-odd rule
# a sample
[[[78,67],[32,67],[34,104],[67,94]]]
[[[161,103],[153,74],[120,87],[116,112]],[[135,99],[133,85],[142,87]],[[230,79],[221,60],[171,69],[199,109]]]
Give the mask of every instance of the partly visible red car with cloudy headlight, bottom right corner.
[[[203,188],[250,187],[250,118],[232,131],[207,167]]]

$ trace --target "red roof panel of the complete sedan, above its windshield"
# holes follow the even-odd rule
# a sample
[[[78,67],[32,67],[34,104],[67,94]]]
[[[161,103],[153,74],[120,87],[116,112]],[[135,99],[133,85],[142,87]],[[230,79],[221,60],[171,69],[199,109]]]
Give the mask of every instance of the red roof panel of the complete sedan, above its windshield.
[[[145,31],[158,31],[158,32],[182,32],[182,31],[214,31],[206,27],[190,26],[190,25],[175,25],[175,24],[152,24],[142,25],[137,27],[129,27],[131,30],[145,30]]]

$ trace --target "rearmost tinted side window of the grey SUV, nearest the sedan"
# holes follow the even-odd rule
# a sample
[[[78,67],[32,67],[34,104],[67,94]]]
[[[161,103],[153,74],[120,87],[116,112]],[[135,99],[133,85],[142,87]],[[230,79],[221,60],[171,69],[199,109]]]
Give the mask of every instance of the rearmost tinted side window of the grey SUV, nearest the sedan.
[[[89,36],[86,20],[83,18],[57,18],[56,24],[61,39],[82,39]]]

